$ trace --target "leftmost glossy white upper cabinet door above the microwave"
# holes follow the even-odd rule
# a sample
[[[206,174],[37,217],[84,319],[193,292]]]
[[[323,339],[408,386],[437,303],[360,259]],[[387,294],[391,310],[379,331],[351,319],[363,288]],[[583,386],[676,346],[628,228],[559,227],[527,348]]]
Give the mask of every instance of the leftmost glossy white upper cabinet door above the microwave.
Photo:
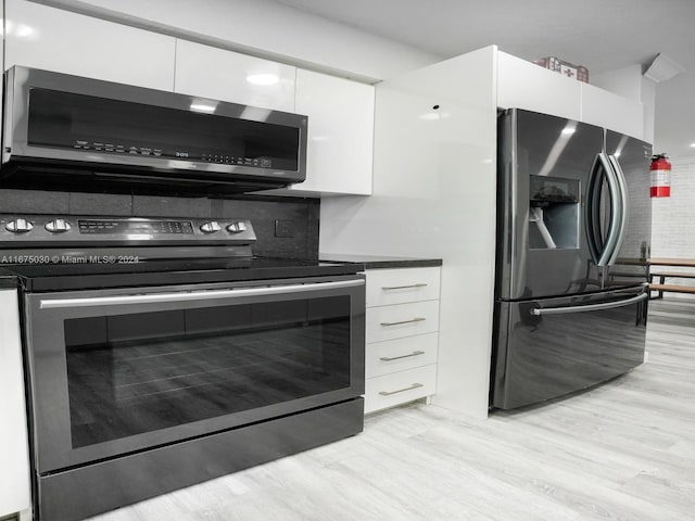
[[[5,1],[5,68],[174,89],[172,37],[22,0]]]

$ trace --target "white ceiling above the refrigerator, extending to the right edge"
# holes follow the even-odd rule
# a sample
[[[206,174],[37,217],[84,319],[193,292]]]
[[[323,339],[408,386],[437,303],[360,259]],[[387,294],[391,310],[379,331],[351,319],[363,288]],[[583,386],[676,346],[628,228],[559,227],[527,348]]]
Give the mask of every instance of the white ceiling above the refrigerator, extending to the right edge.
[[[557,56],[592,74],[648,65],[686,68],[657,86],[655,141],[695,156],[695,0],[279,0],[442,59],[489,45],[527,60]]]

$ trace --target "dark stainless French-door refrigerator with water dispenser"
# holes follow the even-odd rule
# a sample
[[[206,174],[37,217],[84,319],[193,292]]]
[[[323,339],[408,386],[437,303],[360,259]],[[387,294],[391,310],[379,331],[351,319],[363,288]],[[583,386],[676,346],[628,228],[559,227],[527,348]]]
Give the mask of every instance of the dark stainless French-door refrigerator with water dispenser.
[[[498,119],[491,406],[563,396],[642,364],[652,147],[518,109]]]

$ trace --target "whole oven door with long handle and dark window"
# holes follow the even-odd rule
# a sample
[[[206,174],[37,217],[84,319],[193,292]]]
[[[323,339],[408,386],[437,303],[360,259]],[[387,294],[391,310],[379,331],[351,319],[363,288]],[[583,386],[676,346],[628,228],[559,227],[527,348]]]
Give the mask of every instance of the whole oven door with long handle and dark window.
[[[25,306],[39,473],[364,394],[359,275],[35,293]]]

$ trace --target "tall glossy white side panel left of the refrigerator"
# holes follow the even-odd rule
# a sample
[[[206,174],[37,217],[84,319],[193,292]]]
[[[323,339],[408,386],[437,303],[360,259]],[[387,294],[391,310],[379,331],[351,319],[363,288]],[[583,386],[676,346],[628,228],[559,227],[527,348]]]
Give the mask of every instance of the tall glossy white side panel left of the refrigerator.
[[[443,259],[434,403],[478,418],[492,339],[496,58],[489,47],[377,85],[374,195],[321,201],[323,252]]]

